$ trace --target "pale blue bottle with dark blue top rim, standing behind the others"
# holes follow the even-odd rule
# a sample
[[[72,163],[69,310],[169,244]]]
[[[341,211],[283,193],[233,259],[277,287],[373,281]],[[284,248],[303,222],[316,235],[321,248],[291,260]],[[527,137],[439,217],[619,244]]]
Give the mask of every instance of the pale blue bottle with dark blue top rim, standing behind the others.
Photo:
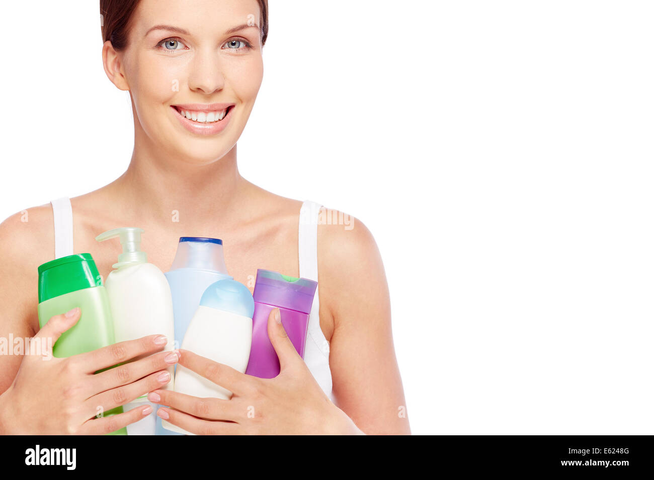
[[[227,272],[220,238],[182,236],[170,270],[165,273],[173,295],[175,342],[179,346],[186,328],[198,310],[207,287],[218,280],[233,280]],[[162,428],[157,417],[157,435],[175,435]]]

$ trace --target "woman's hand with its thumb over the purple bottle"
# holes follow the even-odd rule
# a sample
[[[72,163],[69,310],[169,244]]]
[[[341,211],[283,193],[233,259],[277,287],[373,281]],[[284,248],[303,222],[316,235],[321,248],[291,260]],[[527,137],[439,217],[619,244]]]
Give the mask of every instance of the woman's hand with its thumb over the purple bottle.
[[[148,400],[171,408],[157,415],[198,435],[228,434],[363,434],[320,388],[298,355],[280,321],[279,309],[268,317],[268,336],[281,371],[264,379],[180,350],[179,364],[233,392],[230,400],[198,398],[156,390]]]

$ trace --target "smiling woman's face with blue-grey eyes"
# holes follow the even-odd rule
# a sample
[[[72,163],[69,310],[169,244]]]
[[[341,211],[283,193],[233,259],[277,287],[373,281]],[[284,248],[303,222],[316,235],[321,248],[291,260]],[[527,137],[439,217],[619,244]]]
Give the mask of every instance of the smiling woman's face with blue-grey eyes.
[[[196,165],[230,152],[264,73],[259,17],[256,0],[141,0],[119,53],[137,137],[140,126],[146,141]]]

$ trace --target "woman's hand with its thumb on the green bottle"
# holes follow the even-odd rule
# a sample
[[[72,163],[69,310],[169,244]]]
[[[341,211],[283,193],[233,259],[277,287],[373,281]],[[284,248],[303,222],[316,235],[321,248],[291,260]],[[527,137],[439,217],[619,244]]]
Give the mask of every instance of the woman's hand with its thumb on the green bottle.
[[[170,381],[166,369],[179,360],[177,352],[150,355],[165,347],[165,336],[149,335],[73,357],[54,357],[52,345],[79,318],[79,308],[50,318],[34,336],[40,342],[40,355],[29,355],[26,345],[12,385],[0,395],[0,433],[106,434],[137,422],[152,411],[145,404],[125,413],[96,418],[99,413],[160,389]],[[94,374],[142,355],[150,356]]]

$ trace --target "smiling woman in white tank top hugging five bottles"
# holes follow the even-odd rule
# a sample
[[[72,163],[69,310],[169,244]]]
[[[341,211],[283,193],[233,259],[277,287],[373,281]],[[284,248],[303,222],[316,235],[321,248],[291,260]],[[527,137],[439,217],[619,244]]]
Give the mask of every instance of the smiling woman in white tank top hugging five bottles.
[[[34,266],[52,260],[53,252],[92,252],[106,276],[116,252],[99,249],[95,236],[116,225],[138,225],[147,232],[143,249],[148,261],[163,271],[175,256],[177,242],[171,240],[197,235],[222,239],[230,275],[250,291],[258,268],[317,281],[304,356],[298,355],[284,330],[284,315],[275,309],[267,333],[280,373],[270,379],[241,374],[192,351],[180,351],[172,360],[161,352],[146,364],[136,360],[129,375],[103,372],[104,383],[94,381],[99,376],[88,370],[106,358],[106,351],[41,363],[0,358],[0,392],[6,390],[0,396],[0,430],[116,430],[155,411],[137,406],[102,423],[90,415],[95,396],[112,395],[125,405],[149,392],[153,405],[167,406],[157,408],[156,415],[196,434],[409,433],[387,280],[370,231],[343,212],[274,195],[239,173],[236,144],[264,73],[267,1],[101,0],[100,8],[105,73],[131,100],[129,166],[86,195],[30,209],[30,223],[37,227],[28,233],[18,231],[19,214],[0,225],[5,253],[16,259],[0,277],[0,308],[14,313],[4,317],[12,321],[0,321],[0,334],[39,332],[56,340],[74,325],[77,313],[52,317],[39,331],[29,308],[31,289],[18,289],[30,295],[16,296],[10,285],[16,278],[35,285]],[[38,248],[43,238],[54,238],[54,245]],[[163,348],[155,345],[160,344],[154,338],[127,342],[120,351],[129,357],[122,360]],[[160,377],[154,376],[178,359],[232,391],[232,398],[162,390],[168,380],[155,381]]]

